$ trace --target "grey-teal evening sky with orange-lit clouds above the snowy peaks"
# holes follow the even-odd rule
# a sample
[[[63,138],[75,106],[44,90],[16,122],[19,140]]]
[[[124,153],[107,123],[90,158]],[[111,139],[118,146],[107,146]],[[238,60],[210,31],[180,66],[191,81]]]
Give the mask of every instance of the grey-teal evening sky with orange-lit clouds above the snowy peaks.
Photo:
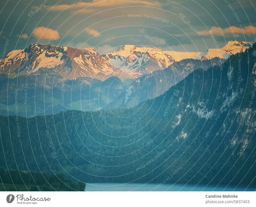
[[[256,42],[255,7],[255,0],[1,0],[0,53],[32,43],[100,54],[127,44],[205,52]]]

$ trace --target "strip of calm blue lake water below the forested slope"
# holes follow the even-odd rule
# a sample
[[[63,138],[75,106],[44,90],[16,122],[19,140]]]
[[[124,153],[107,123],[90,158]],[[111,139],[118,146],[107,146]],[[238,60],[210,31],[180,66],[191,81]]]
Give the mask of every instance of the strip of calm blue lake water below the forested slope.
[[[86,191],[255,191],[256,188],[159,183],[86,183]]]

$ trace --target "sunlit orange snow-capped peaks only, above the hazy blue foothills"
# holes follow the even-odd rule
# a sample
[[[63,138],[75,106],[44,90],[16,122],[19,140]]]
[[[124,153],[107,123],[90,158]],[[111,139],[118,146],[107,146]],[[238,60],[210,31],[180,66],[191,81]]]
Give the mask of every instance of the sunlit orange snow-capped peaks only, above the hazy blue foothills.
[[[229,41],[220,49],[208,49],[207,54],[203,55],[202,52],[163,51],[160,48],[124,45],[116,52],[100,55],[94,48],[30,44],[28,48],[8,52],[0,61],[0,70],[13,76],[50,69],[68,79],[89,77],[105,80],[111,76],[138,78],[183,59],[227,59],[229,55],[244,52],[250,46],[249,42]]]

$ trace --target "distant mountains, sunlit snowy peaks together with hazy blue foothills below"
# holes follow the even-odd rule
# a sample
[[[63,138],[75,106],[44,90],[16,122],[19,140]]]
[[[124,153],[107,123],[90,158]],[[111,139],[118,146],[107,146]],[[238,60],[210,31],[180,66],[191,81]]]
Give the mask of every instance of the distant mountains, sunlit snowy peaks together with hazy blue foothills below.
[[[230,41],[223,48],[244,51],[250,43],[242,43]],[[0,114],[15,114],[17,107],[28,117],[134,107],[160,96],[194,70],[225,61],[205,56],[200,60],[200,54],[125,45],[100,55],[93,48],[31,44],[0,60]]]

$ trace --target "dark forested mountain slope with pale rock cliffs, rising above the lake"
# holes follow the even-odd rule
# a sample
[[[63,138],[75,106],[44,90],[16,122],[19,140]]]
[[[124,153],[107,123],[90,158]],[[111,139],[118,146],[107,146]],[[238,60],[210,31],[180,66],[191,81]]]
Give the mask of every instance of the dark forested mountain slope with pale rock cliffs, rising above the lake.
[[[218,63],[135,107],[0,116],[0,166],[84,182],[255,188],[256,43]]]

